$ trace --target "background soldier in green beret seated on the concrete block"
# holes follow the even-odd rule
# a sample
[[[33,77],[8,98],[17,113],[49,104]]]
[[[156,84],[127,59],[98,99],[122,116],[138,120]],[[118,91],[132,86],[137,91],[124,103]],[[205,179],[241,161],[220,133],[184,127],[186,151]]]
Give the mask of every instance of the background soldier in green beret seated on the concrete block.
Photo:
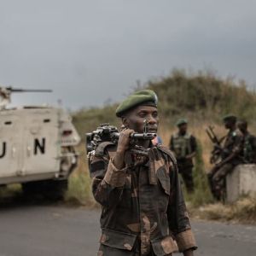
[[[236,116],[226,115],[223,119],[224,126],[229,130],[224,139],[224,148],[221,148],[221,161],[216,164],[208,174],[212,195],[217,199],[224,198],[225,177],[235,166],[242,163],[243,136],[236,129]]]

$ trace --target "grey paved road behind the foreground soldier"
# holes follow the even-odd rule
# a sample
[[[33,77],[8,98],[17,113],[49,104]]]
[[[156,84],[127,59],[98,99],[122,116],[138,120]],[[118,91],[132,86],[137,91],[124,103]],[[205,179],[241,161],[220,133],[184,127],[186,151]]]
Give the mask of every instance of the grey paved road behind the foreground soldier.
[[[96,256],[99,212],[83,207],[0,208],[0,256]],[[193,222],[204,256],[255,256],[256,227]]]

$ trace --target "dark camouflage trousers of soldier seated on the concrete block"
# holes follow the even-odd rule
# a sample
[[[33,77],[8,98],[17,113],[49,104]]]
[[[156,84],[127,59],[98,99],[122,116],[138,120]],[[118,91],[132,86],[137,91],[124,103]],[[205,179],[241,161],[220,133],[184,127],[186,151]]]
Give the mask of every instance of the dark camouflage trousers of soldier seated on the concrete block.
[[[212,190],[212,195],[220,200],[225,192],[225,177],[230,173],[234,168],[234,165],[227,163],[224,166],[221,166],[213,175],[210,177],[210,185]]]

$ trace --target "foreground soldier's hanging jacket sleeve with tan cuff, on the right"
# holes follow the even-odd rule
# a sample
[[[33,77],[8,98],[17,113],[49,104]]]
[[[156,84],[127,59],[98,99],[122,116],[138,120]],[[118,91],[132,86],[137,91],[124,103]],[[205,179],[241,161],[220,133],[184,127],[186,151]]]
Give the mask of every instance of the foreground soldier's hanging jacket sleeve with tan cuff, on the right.
[[[189,223],[189,214],[183,199],[183,191],[177,172],[177,166],[172,166],[170,170],[171,191],[170,201],[167,209],[167,217],[170,231],[177,241],[180,252],[197,248],[195,237]]]

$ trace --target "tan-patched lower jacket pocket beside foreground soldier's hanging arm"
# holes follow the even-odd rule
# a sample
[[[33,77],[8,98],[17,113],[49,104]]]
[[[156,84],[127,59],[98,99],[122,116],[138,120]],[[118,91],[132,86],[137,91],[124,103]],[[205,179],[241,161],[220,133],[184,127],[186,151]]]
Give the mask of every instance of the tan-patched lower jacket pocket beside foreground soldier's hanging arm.
[[[157,241],[151,241],[153,251],[157,256],[169,255],[177,252],[177,243],[172,239],[172,236],[166,236]]]

